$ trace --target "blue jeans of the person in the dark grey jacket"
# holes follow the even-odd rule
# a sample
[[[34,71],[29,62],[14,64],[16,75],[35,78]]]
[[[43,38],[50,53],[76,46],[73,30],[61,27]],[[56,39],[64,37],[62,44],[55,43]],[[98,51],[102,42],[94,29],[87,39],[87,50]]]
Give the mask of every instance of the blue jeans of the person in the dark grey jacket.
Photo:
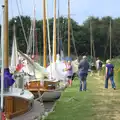
[[[86,91],[87,89],[87,82],[86,82],[86,78],[87,78],[87,75],[80,75],[80,91]]]

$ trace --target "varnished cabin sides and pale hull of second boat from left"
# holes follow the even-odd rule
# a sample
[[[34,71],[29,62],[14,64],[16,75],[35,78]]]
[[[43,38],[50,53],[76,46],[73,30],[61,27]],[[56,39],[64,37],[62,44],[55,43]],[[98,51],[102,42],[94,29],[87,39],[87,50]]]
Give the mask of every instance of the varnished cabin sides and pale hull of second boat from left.
[[[60,88],[48,88],[48,85],[53,84],[57,85],[57,82],[45,81],[44,87],[40,86],[40,81],[30,81],[29,87],[26,89],[32,92],[36,97],[38,97],[38,92],[41,93],[43,101],[54,101],[61,96],[61,92],[65,89],[65,87]]]

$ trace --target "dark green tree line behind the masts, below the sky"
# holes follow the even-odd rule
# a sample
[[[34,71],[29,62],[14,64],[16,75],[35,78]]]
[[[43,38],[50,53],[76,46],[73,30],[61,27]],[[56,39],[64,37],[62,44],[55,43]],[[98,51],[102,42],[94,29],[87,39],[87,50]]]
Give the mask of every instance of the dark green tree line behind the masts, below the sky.
[[[29,16],[21,16],[22,23],[24,26],[25,34],[27,40],[29,38],[31,18]],[[14,22],[16,20],[16,23]],[[110,21],[111,21],[111,33],[110,33]],[[57,20],[58,22],[58,20]],[[56,23],[57,23],[56,22]],[[24,33],[22,30],[21,22],[19,17],[12,18],[9,21],[9,49],[11,54],[12,41],[13,41],[13,25],[16,24],[16,38],[18,49],[22,52],[26,52],[27,44],[25,42]],[[92,32],[90,31],[90,23],[92,27]],[[50,28],[50,40],[51,47],[53,41],[53,18],[49,19]],[[57,25],[58,29],[58,25]],[[68,19],[65,17],[59,18],[59,39],[62,40],[64,53],[67,55],[67,41],[68,41]],[[1,32],[0,32],[1,33]],[[36,37],[38,54],[43,54],[43,21],[36,20]],[[82,25],[79,25],[75,20],[71,18],[71,54],[91,54],[90,53],[90,36],[92,33],[92,41],[94,42],[94,53],[96,57],[102,57],[104,59],[110,56],[110,34],[111,34],[111,47],[112,47],[112,57],[118,56],[120,54],[120,18],[112,18],[110,16],[105,16],[103,18],[98,18],[90,16],[86,19]],[[58,38],[56,38],[58,39]],[[75,46],[74,46],[75,43]],[[48,45],[47,45],[48,50]]]

